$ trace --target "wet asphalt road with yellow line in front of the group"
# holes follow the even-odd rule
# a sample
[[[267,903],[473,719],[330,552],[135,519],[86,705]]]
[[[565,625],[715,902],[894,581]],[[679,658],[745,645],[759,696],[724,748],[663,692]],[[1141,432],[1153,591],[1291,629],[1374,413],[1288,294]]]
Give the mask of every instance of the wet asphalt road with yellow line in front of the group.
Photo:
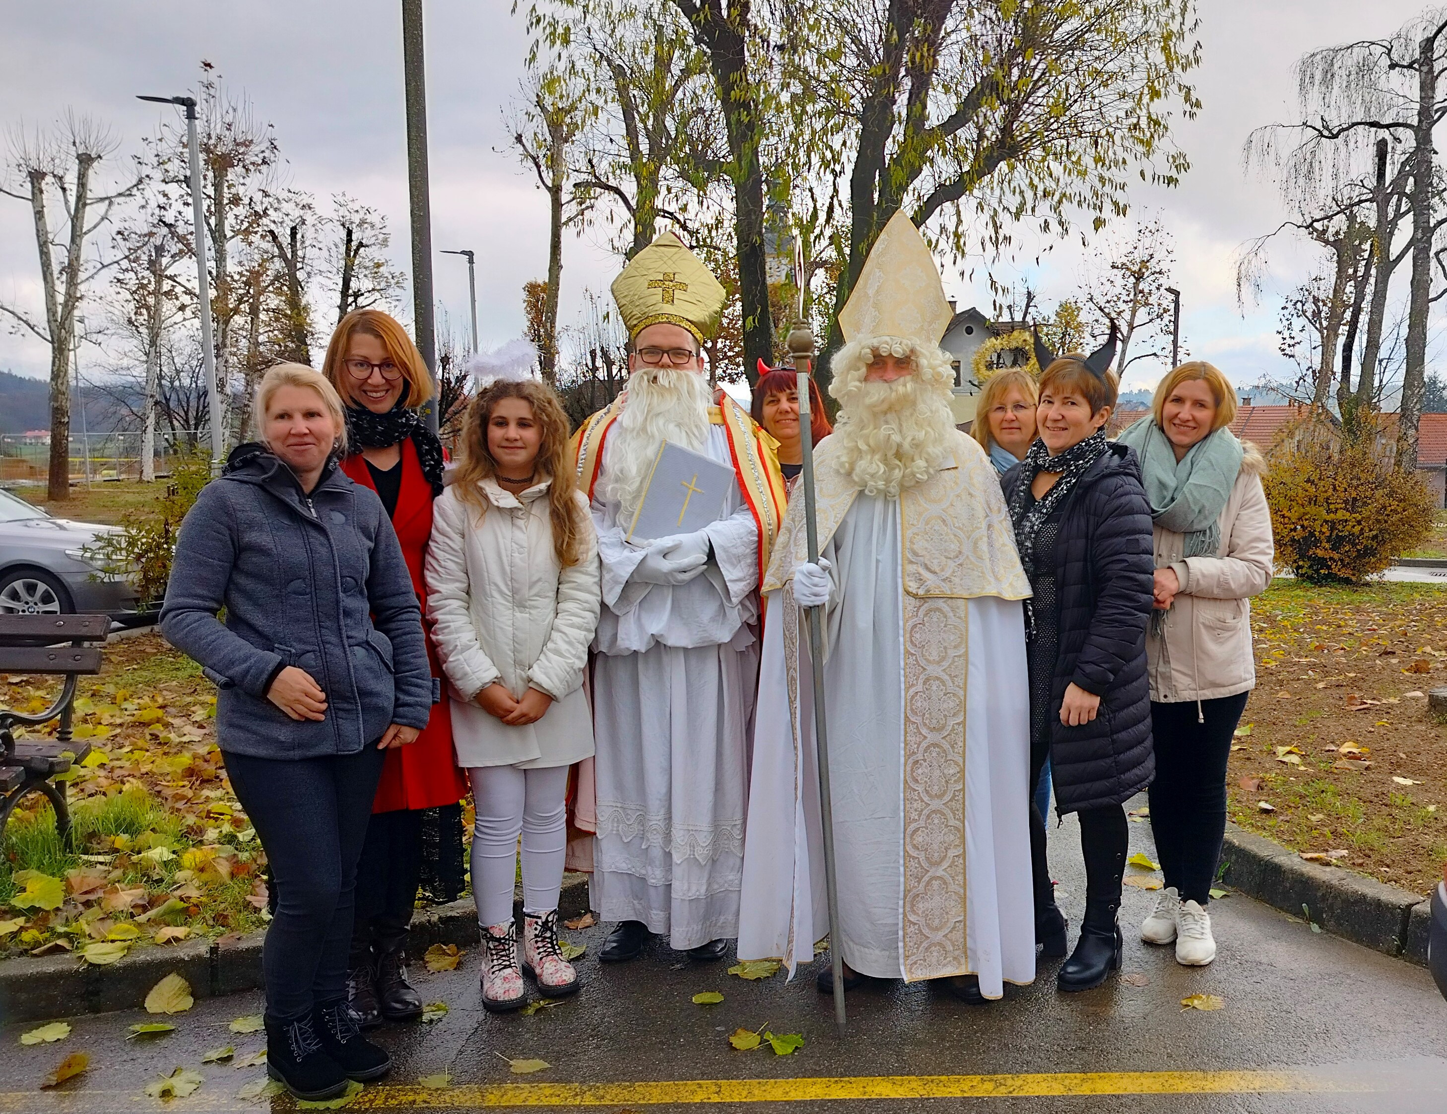
[[[1149,825],[1132,823],[1134,849],[1150,852]],[[1061,880],[1061,904],[1074,924],[1082,904],[1084,880],[1074,825],[1052,830],[1052,861]],[[1053,985],[1053,965],[1032,987],[1007,988],[1006,1000],[971,1008],[928,985],[893,985],[849,995],[845,1036],[833,1027],[831,1000],[813,988],[813,971],[792,984],[783,975],[744,982],[725,974],[728,964],[687,965],[661,943],[640,961],[601,968],[593,955],[602,929],[570,932],[587,946],[579,961],[586,985],[580,995],[531,1017],[486,1014],[479,1004],[475,953],[460,969],[418,977],[425,1001],[444,1001],[450,1011],[431,1024],[382,1030],[395,1068],[385,1085],[369,1087],[353,1110],[472,1110],[527,1102],[598,1110],[680,1110],[696,1091],[658,1087],[645,1091],[559,1092],[527,1085],[789,1081],[845,1078],[832,1085],[842,1098],[803,1101],[797,1092],[761,1087],[719,1092],[725,1101],[709,1110],[799,1110],[819,1114],[896,1111],[1447,1111],[1447,1003],[1427,972],[1351,943],[1318,935],[1301,922],[1246,897],[1213,903],[1220,956],[1208,968],[1178,966],[1171,949],[1142,945],[1134,927],[1152,894],[1126,890],[1124,971],[1146,985],[1113,979],[1084,994],[1064,995]],[[695,1005],[705,990],[725,995],[719,1005]],[[1181,998],[1197,991],[1217,994],[1226,1008],[1182,1010]],[[237,1058],[262,1047],[260,1034],[234,1036],[227,1023],[259,1013],[259,994],[213,998],[172,1020],[177,1032],[149,1040],[124,1040],[126,1027],[145,1013],[104,1014],[72,1021],[71,1036],[55,1045],[23,1047],[20,1032],[0,1029],[0,1111],[230,1111],[291,1110],[288,1100],[245,1102],[237,1089],[262,1076],[263,1068],[201,1066],[207,1049],[234,1045]],[[774,1033],[800,1033],[805,1047],[789,1058],[767,1050],[735,1052],[726,1034],[738,1027],[768,1026]],[[45,1073],[68,1052],[91,1056],[88,1073],[58,1091],[38,1089]],[[512,1075],[505,1058],[537,1058],[551,1066],[534,1075]],[[178,1066],[205,1076],[185,1100],[158,1102],[143,1094],[148,1081]],[[1202,1078],[1178,1072],[1260,1072],[1291,1069],[1294,1092],[1262,1092],[1281,1087],[1279,1076],[1214,1076],[1214,1094],[1201,1094]],[[450,1073],[450,1089],[418,1088],[421,1076]],[[1074,1094],[1040,1095],[1039,1081],[1004,1078],[948,1084],[951,1098],[900,1097],[919,1091],[909,1079],[860,1082],[873,1076],[1017,1076],[1033,1073],[1146,1072],[1160,1094],[1078,1094],[1110,1091],[1117,1076],[1066,1079]],[[1262,1082],[1262,1079],[1268,1082]],[[1276,1081],[1276,1082],[1270,1082]],[[502,1091],[499,1085],[522,1084]],[[1048,1082],[1058,1087],[1059,1079]],[[818,1094],[818,1084],[809,1084]],[[971,1097],[981,1088],[1032,1088],[1036,1097]],[[954,1089],[952,1089],[954,1088]],[[962,1089],[961,1089],[962,1088]],[[1139,1085],[1130,1085],[1126,1089]],[[1119,1087],[1117,1087],[1119,1089]],[[881,1097],[864,1101],[862,1094]],[[765,1101],[742,1101],[763,1098]]]

